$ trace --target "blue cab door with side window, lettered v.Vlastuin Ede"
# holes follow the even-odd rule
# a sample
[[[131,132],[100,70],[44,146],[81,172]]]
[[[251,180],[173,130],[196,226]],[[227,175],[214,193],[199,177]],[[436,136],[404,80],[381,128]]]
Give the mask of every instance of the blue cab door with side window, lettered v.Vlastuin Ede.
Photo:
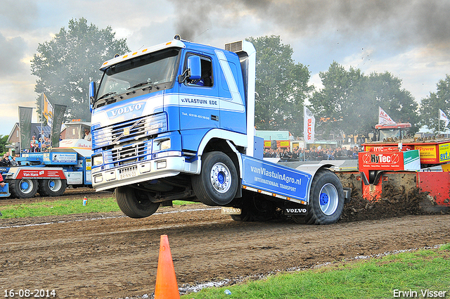
[[[212,58],[188,52],[184,57],[184,70],[189,56],[200,56],[201,79],[187,79],[179,88],[180,129],[213,129],[219,127],[219,91],[214,82]]]

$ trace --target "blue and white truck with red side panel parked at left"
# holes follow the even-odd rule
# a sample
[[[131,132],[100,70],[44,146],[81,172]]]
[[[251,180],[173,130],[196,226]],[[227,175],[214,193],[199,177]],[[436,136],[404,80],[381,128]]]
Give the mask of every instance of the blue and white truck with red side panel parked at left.
[[[0,198],[60,196],[68,186],[92,186],[91,141],[83,139],[89,122],[65,124],[65,136],[58,148],[41,153],[21,153],[19,166],[0,167],[6,185],[0,186]]]

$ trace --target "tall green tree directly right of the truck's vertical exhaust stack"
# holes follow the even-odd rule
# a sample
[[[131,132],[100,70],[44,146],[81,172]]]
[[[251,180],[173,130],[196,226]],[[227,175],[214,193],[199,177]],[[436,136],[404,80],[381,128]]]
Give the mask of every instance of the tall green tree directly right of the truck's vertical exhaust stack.
[[[307,66],[295,64],[290,45],[279,36],[248,38],[257,51],[255,125],[257,129],[303,132],[303,103],[313,87],[308,86]]]

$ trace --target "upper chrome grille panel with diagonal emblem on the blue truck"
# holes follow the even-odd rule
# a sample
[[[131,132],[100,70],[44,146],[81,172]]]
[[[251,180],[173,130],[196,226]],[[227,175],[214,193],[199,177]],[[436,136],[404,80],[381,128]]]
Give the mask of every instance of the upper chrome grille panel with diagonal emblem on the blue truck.
[[[124,141],[137,141],[145,136],[167,131],[167,114],[158,113],[139,119],[127,120],[118,124],[94,129],[92,147],[101,148]]]

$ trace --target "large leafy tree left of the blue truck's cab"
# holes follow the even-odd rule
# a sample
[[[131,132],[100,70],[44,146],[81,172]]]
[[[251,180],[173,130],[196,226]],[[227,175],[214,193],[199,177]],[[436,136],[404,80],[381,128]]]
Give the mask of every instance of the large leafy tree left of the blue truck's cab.
[[[116,53],[129,51],[126,39],[115,39],[110,26],[98,30],[80,18],[69,21],[49,42],[39,44],[32,58],[32,75],[38,77],[37,112],[41,115],[41,93],[49,101],[68,106],[67,118],[91,120],[89,112],[89,82],[99,81],[101,63]]]

